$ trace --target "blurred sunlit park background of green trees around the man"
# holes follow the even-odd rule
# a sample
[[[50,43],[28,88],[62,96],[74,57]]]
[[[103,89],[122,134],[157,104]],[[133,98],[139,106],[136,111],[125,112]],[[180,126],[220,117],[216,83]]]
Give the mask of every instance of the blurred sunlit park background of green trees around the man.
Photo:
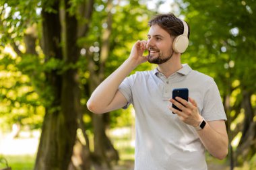
[[[150,18],[168,12],[189,23],[182,62],[214,77],[228,117],[228,157],[207,153],[209,169],[256,169],[255,9],[254,0],[0,0],[0,169],[133,169],[132,106],[95,115],[86,102],[146,40]]]

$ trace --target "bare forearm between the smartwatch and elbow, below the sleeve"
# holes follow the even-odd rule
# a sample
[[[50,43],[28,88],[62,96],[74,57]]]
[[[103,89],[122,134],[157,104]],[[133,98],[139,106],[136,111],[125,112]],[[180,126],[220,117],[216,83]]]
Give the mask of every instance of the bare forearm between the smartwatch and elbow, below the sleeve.
[[[197,130],[197,132],[207,151],[218,159],[224,159],[228,154],[228,136],[224,131],[222,133],[214,130],[211,124],[225,126],[217,121],[207,122],[203,130]],[[225,127],[220,127],[220,129],[223,128],[226,130]]]

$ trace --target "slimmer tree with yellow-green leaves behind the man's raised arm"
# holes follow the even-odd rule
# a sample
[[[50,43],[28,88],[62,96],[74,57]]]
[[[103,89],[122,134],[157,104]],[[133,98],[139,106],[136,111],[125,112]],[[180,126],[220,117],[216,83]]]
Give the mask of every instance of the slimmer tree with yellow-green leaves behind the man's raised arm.
[[[130,4],[129,4],[130,3]],[[107,1],[104,8],[98,9],[100,13],[94,13],[90,35],[85,40],[84,48],[88,53],[88,69],[90,73],[88,85],[90,93],[113,71],[119,67],[120,62],[129,56],[127,47],[131,41],[138,38],[146,38],[146,34],[130,34],[132,32],[145,31],[148,24],[145,23],[147,15],[144,15],[143,22],[137,20],[142,13],[148,13],[145,5],[139,5],[137,1],[130,1],[126,5],[113,5],[112,1]],[[100,6],[99,6],[100,7]],[[133,9],[131,10],[131,7]],[[97,18],[104,18],[98,22]],[[98,34],[100,32],[100,34]],[[127,36],[129,35],[129,36]],[[144,37],[143,37],[144,36]],[[92,42],[88,43],[88,40]],[[122,52],[117,52],[122,51]],[[118,62],[120,61],[120,62]],[[115,65],[110,64],[115,63]],[[118,161],[119,155],[112,142],[106,136],[106,129],[109,128],[111,114],[92,115],[94,127],[94,154],[103,166],[110,168],[111,161]],[[112,116],[113,117],[113,116]]]

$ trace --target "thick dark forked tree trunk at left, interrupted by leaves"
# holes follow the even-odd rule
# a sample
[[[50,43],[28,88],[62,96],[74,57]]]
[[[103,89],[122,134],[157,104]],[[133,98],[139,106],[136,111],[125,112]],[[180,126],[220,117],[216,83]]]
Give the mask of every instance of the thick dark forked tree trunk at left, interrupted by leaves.
[[[77,22],[65,10],[65,21],[61,29],[59,17],[59,1],[53,3],[55,13],[49,13],[42,8],[43,49],[46,60],[59,58],[65,61],[65,66],[77,62],[79,51],[76,46]],[[65,9],[68,3],[65,1]],[[63,50],[61,49],[61,30],[63,33]],[[79,86],[77,70],[68,68],[63,75],[57,71],[46,73],[53,95],[51,105],[46,108],[42,126],[42,134],[34,169],[65,170],[71,160],[73,145],[77,130],[77,113],[79,112]]]

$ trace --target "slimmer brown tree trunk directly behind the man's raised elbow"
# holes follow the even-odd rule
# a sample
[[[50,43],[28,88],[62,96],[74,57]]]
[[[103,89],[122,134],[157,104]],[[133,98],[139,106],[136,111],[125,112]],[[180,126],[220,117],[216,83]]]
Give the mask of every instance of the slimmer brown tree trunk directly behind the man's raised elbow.
[[[102,46],[100,46],[100,63],[98,74],[94,71],[95,62],[90,60],[89,69],[92,76],[90,82],[90,91],[93,91],[100,82],[104,79],[104,71],[105,71],[105,63],[108,58],[109,48],[110,48],[110,33],[111,33],[111,25],[112,25],[112,14],[110,12],[112,1],[108,0],[106,10],[108,10],[108,17],[106,18],[107,28],[102,32]],[[108,122],[106,117],[107,114],[103,115],[93,115],[93,126],[94,126],[94,154],[98,158],[98,163],[102,167],[108,167],[111,169],[110,162],[118,161],[119,154],[117,150],[115,150],[112,142],[109,140],[108,136],[106,136],[106,124]]]

